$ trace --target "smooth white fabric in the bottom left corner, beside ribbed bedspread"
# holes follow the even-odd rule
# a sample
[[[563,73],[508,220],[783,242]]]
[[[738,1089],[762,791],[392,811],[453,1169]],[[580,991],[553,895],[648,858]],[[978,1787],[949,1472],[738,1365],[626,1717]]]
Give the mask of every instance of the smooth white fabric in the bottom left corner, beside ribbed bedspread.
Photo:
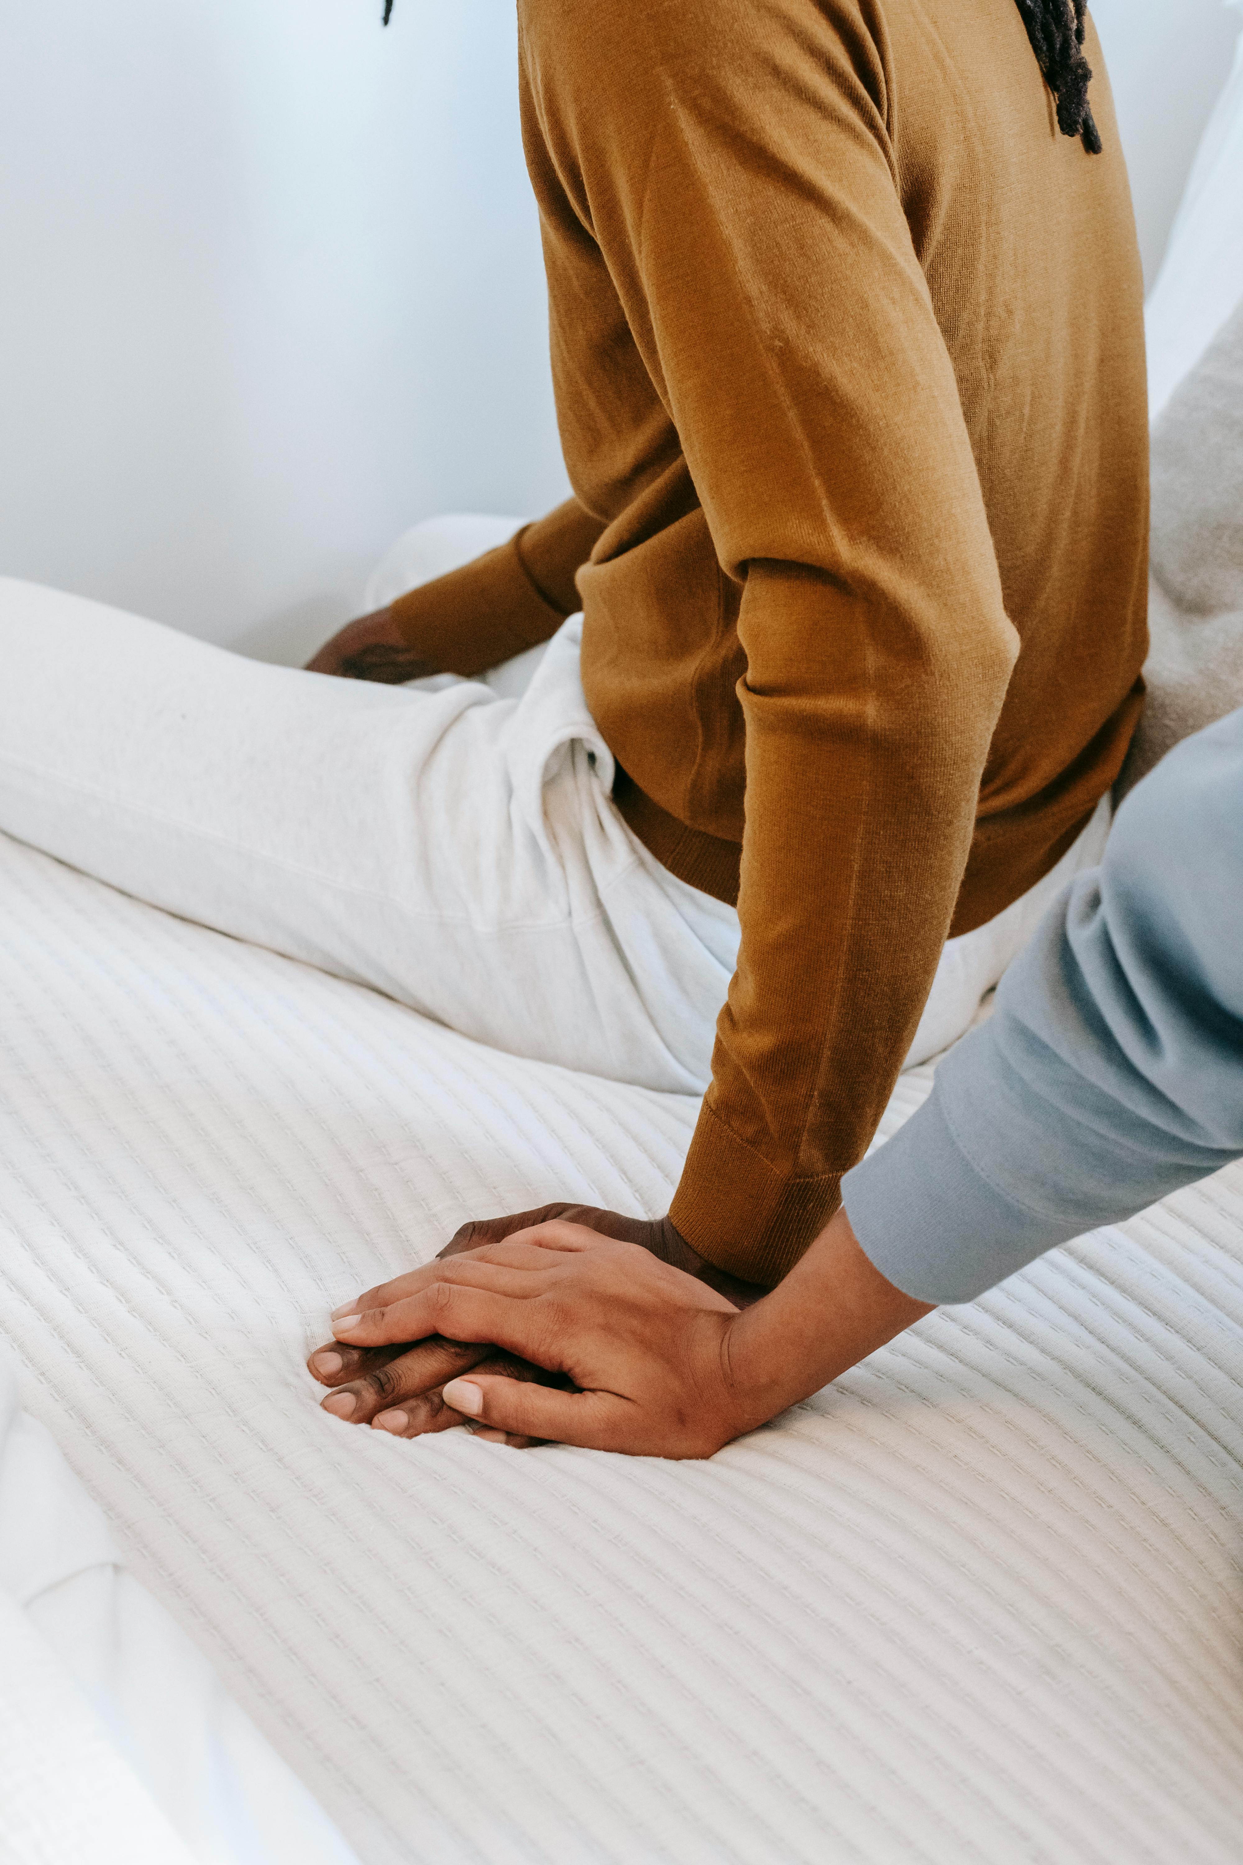
[[[28,1714],[32,1688],[45,1708]],[[22,1723],[17,1748],[13,1720]],[[47,1427],[17,1404],[2,1350],[0,1770],[26,1783],[20,1800],[0,1783],[6,1865],[19,1852],[52,1865],[78,1858],[93,1865],[97,1850],[101,1865],[136,1861],[147,1843],[155,1856],[166,1848],[183,1865],[281,1865],[287,1858],[354,1865],[203,1654],[125,1572],[99,1503]],[[117,1796],[140,1809],[136,1850],[125,1850]],[[32,1831],[20,1811],[26,1802],[50,1807],[54,1837],[45,1835],[43,1854],[20,1850]],[[58,1807],[73,1809],[71,1828]]]

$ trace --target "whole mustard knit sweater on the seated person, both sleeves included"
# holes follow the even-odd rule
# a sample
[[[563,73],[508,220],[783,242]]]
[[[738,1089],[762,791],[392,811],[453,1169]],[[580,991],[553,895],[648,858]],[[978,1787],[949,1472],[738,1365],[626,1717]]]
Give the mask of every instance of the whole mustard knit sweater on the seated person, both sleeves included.
[[[775,1281],[941,946],[1036,882],[1141,707],[1142,287],[1014,0],[520,0],[576,500],[412,591],[483,668],[583,610],[617,802],[738,903],[671,1207]]]

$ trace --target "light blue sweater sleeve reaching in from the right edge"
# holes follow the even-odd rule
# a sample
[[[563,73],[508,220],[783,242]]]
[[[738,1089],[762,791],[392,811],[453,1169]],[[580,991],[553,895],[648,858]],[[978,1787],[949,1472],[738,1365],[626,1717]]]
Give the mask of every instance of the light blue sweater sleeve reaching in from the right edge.
[[[922,1302],[1243,1154],[1243,711],[1127,796],[932,1097],[844,1181],[863,1250]]]

